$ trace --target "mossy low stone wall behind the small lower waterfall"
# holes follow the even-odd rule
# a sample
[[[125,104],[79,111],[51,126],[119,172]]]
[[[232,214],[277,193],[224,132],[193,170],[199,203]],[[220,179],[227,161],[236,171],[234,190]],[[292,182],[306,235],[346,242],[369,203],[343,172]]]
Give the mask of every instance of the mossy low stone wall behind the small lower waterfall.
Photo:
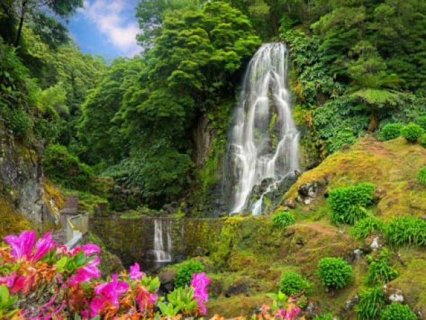
[[[175,262],[186,257],[209,255],[221,234],[220,219],[197,218],[93,217],[89,220],[89,231],[99,237],[106,248],[120,257],[125,266],[136,261],[150,268],[148,260],[152,260],[150,253],[154,248],[156,219],[161,219],[164,225],[171,223],[171,254]]]

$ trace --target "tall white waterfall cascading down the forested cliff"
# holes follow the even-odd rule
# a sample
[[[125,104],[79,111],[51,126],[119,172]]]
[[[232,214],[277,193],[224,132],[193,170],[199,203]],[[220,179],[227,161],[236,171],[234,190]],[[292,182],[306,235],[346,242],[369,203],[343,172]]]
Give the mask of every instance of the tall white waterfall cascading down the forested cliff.
[[[248,203],[253,187],[267,179],[267,192],[271,191],[299,168],[299,132],[291,116],[287,61],[286,45],[268,43],[247,68],[228,151],[236,178],[232,213],[247,209],[255,215],[262,213],[263,195],[254,204]]]

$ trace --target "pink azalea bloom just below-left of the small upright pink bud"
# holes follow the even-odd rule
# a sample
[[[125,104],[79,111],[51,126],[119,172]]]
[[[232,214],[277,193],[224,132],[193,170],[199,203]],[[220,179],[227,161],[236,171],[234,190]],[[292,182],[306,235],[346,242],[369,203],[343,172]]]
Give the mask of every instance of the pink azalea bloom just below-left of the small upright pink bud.
[[[102,310],[105,303],[118,308],[119,297],[128,290],[129,286],[126,282],[117,281],[117,275],[113,275],[111,282],[98,284],[95,287],[95,294],[100,297],[94,297],[90,303],[91,317],[95,317]]]

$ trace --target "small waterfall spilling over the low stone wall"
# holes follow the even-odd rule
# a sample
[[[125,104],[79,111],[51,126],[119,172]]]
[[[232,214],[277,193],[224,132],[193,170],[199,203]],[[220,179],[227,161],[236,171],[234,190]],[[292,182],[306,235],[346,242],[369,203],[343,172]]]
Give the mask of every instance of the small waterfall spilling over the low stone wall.
[[[154,220],[154,250],[155,262],[172,261],[172,221],[166,221],[166,247],[164,246],[163,220]]]

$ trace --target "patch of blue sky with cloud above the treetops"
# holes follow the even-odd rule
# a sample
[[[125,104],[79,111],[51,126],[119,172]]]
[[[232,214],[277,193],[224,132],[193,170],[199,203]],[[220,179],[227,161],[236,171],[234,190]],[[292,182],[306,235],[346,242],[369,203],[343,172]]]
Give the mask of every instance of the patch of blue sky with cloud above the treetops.
[[[139,0],[85,0],[85,8],[71,17],[68,28],[82,52],[102,54],[106,61],[141,52],[135,6]]]

